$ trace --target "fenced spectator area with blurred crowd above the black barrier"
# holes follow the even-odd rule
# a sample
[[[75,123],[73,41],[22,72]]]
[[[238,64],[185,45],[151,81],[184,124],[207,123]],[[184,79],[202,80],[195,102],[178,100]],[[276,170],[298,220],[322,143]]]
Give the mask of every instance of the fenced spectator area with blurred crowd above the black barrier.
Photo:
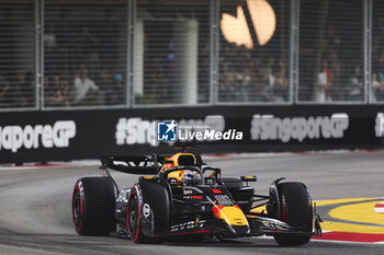
[[[0,111],[384,103],[380,0],[0,0]]]

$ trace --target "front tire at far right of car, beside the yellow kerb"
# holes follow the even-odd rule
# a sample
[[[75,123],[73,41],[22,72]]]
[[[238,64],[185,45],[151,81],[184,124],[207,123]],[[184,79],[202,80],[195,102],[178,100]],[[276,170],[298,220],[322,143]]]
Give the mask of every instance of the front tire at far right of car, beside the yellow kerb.
[[[278,185],[281,205],[280,220],[303,227],[308,235],[276,234],[274,240],[280,245],[303,245],[309,242],[313,228],[312,200],[302,183],[281,183]]]

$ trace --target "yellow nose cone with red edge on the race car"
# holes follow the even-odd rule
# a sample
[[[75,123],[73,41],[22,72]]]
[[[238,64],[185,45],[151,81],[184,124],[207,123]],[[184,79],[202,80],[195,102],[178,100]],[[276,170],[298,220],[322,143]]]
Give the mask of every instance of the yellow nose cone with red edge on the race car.
[[[213,212],[215,218],[224,220],[228,229],[234,234],[248,234],[249,224],[241,209],[236,206],[214,206]]]

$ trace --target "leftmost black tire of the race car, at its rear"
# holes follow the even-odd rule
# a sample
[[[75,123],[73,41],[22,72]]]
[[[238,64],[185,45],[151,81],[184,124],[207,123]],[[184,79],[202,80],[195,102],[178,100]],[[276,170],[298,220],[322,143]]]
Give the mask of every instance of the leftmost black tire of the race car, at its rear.
[[[116,228],[117,187],[110,177],[84,177],[72,193],[72,222],[80,235],[108,235]]]

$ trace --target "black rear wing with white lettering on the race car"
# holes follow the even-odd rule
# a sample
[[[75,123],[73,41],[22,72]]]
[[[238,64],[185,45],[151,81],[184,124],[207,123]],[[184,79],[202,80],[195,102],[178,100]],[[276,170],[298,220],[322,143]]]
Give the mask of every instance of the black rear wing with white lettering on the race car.
[[[159,162],[156,155],[102,157],[100,161],[103,175],[109,175],[106,167],[127,174],[155,175],[165,162],[163,159]]]

